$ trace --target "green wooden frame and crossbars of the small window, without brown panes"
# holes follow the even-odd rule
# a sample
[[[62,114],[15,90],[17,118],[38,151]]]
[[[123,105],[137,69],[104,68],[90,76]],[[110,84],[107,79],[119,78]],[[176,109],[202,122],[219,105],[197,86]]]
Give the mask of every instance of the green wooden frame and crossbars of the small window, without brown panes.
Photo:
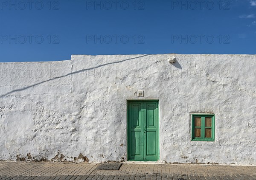
[[[201,117],[201,137],[195,137],[195,117]],[[211,117],[212,118],[212,137],[211,138],[204,138],[205,134],[205,118]],[[215,141],[215,114],[191,114],[191,141]]]

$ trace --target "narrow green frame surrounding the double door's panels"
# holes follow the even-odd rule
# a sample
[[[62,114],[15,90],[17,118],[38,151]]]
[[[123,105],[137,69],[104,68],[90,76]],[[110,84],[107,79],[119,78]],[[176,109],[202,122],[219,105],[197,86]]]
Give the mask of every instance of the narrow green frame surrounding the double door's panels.
[[[136,101],[157,101],[158,103],[158,124],[157,124],[157,128],[158,128],[158,149],[157,149],[157,160],[129,160],[129,102],[136,102]],[[127,148],[126,148],[126,152],[127,152],[127,161],[160,161],[160,115],[159,115],[159,100],[158,99],[132,99],[132,100],[127,100],[126,101],[126,135],[127,135],[127,139],[126,139],[126,144],[127,144]]]

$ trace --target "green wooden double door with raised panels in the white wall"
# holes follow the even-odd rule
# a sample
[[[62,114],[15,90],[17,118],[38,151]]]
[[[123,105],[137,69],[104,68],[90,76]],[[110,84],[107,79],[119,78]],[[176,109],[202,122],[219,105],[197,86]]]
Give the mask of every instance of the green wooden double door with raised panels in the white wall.
[[[159,160],[158,101],[128,101],[128,160]]]

